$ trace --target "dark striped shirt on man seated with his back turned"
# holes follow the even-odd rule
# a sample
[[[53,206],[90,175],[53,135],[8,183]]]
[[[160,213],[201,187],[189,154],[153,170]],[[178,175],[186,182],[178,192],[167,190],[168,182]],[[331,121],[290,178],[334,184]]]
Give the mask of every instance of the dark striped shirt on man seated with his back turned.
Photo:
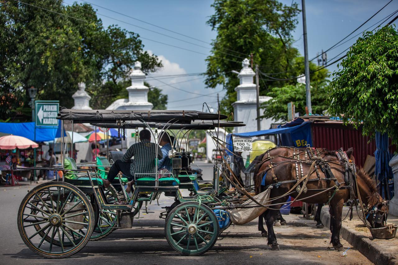
[[[150,142],[150,140],[142,140],[141,142],[131,145],[121,160],[123,162],[130,162],[131,158],[134,157],[130,166],[130,173],[132,176],[134,176],[135,173],[156,173],[156,148],[158,149],[158,159],[162,159],[162,151],[157,144]],[[134,177],[136,179],[140,177],[155,177],[155,174],[137,175]]]

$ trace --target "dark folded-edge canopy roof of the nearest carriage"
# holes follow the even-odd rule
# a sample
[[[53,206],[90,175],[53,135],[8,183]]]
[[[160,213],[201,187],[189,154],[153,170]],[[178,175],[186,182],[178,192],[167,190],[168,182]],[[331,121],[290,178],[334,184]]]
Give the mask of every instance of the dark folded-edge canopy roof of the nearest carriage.
[[[74,123],[114,123],[116,121],[178,122],[226,119],[226,115],[185,110],[110,110],[61,109],[57,119]]]

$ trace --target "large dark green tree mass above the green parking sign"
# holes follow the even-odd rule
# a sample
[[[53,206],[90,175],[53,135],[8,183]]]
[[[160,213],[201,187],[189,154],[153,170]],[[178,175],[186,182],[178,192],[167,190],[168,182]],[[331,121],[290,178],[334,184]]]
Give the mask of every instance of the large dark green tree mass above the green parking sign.
[[[117,80],[127,78],[136,60],[146,73],[162,66],[155,55],[143,51],[138,34],[115,25],[104,29],[90,4],[29,3],[59,14],[1,2],[0,119],[26,107],[31,86],[38,89],[36,99],[58,99],[72,107],[78,82],[86,82],[94,107],[104,107],[123,90]]]

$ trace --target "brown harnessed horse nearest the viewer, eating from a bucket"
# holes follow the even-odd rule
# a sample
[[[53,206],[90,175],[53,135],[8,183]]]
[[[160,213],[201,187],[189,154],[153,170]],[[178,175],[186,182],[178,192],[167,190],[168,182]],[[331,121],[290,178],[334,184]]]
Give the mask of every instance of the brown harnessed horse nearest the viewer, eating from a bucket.
[[[306,187],[308,189],[306,193],[301,193],[298,196],[298,193],[295,189],[291,196],[296,197],[297,199],[301,199],[305,203],[329,203],[331,216],[330,230],[332,232],[330,243],[335,249],[341,250],[343,247],[340,244],[339,240],[339,234],[341,229],[341,212],[343,204],[350,197],[350,191],[349,189],[344,188],[347,187],[344,181],[345,166],[340,163],[337,156],[334,153],[330,152],[325,154],[324,159],[325,160],[318,159],[316,164],[318,164],[318,166],[323,164],[326,167],[330,167],[333,176],[340,184],[339,189],[336,189],[336,187],[334,187],[336,185],[336,182],[333,180],[318,180],[318,175],[312,168],[307,178],[308,180],[316,179],[316,181],[308,181],[306,183]],[[285,195],[296,184],[296,168],[295,163],[289,162],[286,158],[275,157],[272,159],[272,163],[272,173],[269,171],[269,164],[264,163],[256,168],[255,177],[256,179],[260,179],[264,175],[264,172],[268,170],[268,173],[265,177],[265,186],[275,185],[275,182],[290,181],[287,183],[282,183],[279,187],[274,186],[273,189],[271,189],[270,197],[274,198]],[[304,173],[304,176],[307,175],[307,173],[310,171],[310,168],[313,166],[314,164],[312,161],[302,162],[302,171]],[[328,178],[328,176],[323,171],[320,171],[319,173],[321,178]],[[273,179],[273,175],[275,175],[277,181]],[[388,208],[386,207],[385,203],[383,203],[380,195],[378,195],[375,185],[373,184],[369,176],[365,173],[365,171],[359,170],[356,179],[359,187],[359,195],[361,196],[362,201],[365,204],[365,208],[370,210],[374,207],[377,207],[379,212],[386,213],[388,211]],[[262,187],[261,185],[258,187],[259,183],[261,184],[261,180],[256,181],[256,188],[264,190],[264,187]],[[327,191],[326,189],[329,189],[328,192],[325,192]],[[321,193],[321,191],[324,192]],[[331,193],[333,193],[333,195]],[[279,199],[272,201],[272,204],[274,204],[274,206],[271,206],[270,208],[272,209],[266,210],[264,213],[265,222],[268,228],[268,244],[272,247],[272,249],[279,249],[279,244],[277,243],[275,232],[273,231],[273,222],[275,220],[277,210],[279,210],[279,208],[281,208],[281,205],[286,202],[287,197],[288,195],[285,195]],[[371,216],[373,215],[369,215],[369,217]],[[376,226],[381,225],[376,224]]]

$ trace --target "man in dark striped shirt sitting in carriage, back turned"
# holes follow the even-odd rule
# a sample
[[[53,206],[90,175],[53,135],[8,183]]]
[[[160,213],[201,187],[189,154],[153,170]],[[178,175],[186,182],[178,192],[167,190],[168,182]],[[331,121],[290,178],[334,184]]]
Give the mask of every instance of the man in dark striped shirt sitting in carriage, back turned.
[[[150,142],[150,131],[143,129],[139,133],[140,142],[132,144],[127,152],[121,159],[115,161],[115,163],[109,169],[108,177],[103,182],[104,187],[107,188],[111,184],[111,181],[115,179],[119,171],[121,171],[130,180],[127,183],[127,193],[130,193],[131,186],[134,183],[135,173],[156,173],[155,172],[155,158],[156,148],[158,153],[158,159],[162,159],[162,151],[159,146],[153,142]],[[134,156],[134,159],[131,159]],[[137,175],[140,177],[155,177],[155,175]]]

